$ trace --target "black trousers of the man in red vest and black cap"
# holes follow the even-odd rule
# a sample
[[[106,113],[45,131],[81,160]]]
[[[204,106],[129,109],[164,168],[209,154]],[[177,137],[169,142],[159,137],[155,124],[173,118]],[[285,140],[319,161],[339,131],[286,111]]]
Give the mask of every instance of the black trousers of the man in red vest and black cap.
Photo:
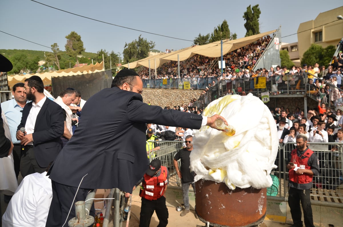
[[[147,200],[142,197],[141,217],[139,219],[139,227],[149,227],[150,220],[156,212],[159,224],[157,227],[166,227],[168,224],[168,208],[166,206],[166,198],[161,196],[157,200]]]

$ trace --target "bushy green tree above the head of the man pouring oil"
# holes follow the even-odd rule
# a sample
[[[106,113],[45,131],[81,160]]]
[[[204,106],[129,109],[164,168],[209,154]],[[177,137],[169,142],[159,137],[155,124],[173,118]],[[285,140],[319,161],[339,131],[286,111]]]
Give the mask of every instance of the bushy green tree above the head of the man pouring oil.
[[[155,47],[155,42],[147,41],[146,39],[138,37],[131,43],[125,43],[123,54],[124,62],[133,62],[149,56],[149,51]]]

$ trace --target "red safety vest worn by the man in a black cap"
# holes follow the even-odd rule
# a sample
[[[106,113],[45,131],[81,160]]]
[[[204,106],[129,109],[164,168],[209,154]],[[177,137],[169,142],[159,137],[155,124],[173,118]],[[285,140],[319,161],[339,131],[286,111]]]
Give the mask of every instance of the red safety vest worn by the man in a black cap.
[[[139,196],[147,200],[157,200],[160,198],[164,194],[168,183],[167,171],[167,167],[161,166],[161,174],[158,177],[144,174],[143,188],[141,188]]]

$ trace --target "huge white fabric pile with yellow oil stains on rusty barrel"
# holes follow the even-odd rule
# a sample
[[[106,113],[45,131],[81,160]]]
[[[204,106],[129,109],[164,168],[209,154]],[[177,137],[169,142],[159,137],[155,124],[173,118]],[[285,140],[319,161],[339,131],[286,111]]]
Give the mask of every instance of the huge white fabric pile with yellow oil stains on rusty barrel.
[[[273,183],[279,141],[275,120],[268,107],[252,94],[227,95],[212,101],[203,116],[223,116],[236,129],[234,136],[203,126],[194,130],[191,170],[200,179],[225,182],[227,187],[262,189]]]

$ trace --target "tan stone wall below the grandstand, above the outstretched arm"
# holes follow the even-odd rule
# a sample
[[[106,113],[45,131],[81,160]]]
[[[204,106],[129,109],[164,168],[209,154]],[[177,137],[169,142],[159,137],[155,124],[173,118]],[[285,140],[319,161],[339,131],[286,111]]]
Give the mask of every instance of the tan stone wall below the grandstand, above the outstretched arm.
[[[144,88],[143,102],[150,102],[151,105],[161,106],[179,106],[189,104],[193,98],[198,99],[202,90],[181,90],[181,89],[152,89]]]

